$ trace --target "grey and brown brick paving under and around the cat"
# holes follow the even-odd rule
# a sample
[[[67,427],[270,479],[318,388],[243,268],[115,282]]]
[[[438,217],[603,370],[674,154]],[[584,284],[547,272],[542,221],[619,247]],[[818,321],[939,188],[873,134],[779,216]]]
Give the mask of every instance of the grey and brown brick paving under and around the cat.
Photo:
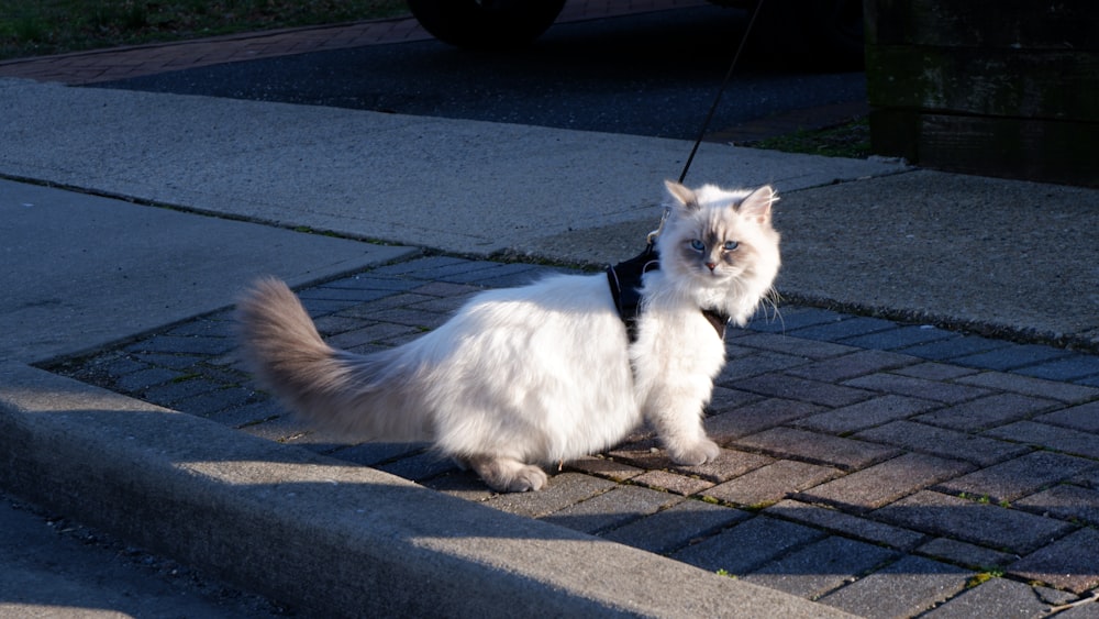
[[[368,352],[554,270],[428,256],[301,297],[329,341]],[[1094,355],[784,307],[726,336],[707,419],[717,462],[677,466],[641,430],[542,491],[498,495],[423,445],[311,432],[235,369],[230,319],[49,369],[858,615],[1040,617],[1099,587]]]

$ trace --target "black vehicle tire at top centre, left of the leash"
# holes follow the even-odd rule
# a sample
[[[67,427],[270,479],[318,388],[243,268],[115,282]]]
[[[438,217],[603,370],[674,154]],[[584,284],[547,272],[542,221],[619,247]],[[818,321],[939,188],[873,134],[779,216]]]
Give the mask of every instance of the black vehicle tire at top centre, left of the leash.
[[[467,49],[522,47],[548,29],[565,0],[408,0],[435,38]]]

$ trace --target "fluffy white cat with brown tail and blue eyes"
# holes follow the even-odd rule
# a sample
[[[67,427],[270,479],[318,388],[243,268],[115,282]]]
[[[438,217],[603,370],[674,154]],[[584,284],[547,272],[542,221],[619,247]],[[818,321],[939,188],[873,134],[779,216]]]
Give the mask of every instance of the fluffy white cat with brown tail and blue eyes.
[[[659,268],[628,333],[604,275],[558,275],[476,295],[445,324],[358,355],[325,344],[276,279],[238,306],[244,358],[291,409],[348,438],[432,442],[500,491],[537,490],[541,465],[615,445],[647,422],[673,461],[720,449],[702,409],[725,360],[722,316],[744,324],[771,290],[770,187],[667,183]]]

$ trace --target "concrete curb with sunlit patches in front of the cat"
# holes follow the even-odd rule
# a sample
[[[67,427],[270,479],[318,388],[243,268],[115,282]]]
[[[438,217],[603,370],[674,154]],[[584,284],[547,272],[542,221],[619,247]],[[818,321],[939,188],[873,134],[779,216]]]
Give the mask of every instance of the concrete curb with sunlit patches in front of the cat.
[[[307,615],[850,617],[22,364],[0,383],[5,488]]]

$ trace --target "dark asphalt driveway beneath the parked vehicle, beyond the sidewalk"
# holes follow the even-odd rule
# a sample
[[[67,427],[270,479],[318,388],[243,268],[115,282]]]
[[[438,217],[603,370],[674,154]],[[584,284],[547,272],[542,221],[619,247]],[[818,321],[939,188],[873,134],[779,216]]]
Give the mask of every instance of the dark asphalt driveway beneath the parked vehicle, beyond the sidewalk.
[[[96,86],[693,139],[747,22],[743,11],[707,5],[555,24],[520,52],[468,52],[432,40]],[[796,38],[755,29],[750,43],[711,133],[866,99],[864,74],[807,68],[818,51]]]

